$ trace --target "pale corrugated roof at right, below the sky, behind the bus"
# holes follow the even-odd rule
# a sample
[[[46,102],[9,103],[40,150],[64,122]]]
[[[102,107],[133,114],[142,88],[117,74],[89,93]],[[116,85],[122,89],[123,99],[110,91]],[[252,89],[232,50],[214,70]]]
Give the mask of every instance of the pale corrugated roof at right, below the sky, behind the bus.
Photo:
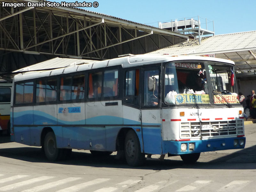
[[[206,55],[215,53],[215,57],[235,61],[236,69],[255,68],[256,65],[256,31],[231,33],[189,40],[183,44],[160,49],[148,54],[169,55]],[[248,65],[250,64],[250,65]]]

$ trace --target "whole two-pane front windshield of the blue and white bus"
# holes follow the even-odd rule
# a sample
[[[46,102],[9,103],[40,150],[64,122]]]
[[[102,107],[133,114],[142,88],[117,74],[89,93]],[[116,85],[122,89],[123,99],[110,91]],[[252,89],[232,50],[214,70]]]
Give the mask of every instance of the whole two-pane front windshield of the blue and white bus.
[[[213,92],[214,104],[238,103],[233,66],[209,64],[205,66],[204,62],[189,61],[167,63],[164,102],[168,105],[209,105],[209,94]],[[206,70],[209,71],[210,80],[207,79]]]

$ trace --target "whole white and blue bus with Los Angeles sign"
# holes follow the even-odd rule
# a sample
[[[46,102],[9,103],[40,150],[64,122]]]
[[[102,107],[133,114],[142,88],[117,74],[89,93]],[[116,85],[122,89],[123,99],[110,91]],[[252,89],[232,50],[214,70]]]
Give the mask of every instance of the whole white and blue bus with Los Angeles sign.
[[[234,62],[210,57],[134,55],[24,72],[13,80],[11,139],[42,146],[58,161],[72,149],[131,166],[145,155],[181,156],[245,145]]]

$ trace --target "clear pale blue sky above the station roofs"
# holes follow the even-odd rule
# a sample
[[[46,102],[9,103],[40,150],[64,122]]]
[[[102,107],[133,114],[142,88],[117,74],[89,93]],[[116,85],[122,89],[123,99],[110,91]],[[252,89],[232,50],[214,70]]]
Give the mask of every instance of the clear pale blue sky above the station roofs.
[[[50,0],[63,2],[65,0]],[[256,30],[256,0],[88,0],[97,1],[99,6],[80,7],[85,10],[104,13],[125,20],[158,27],[158,22],[195,19],[202,28],[214,31],[215,35]],[[66,0],[65,2],[76,2]],[[77,2],[84,2],[77,0]]]

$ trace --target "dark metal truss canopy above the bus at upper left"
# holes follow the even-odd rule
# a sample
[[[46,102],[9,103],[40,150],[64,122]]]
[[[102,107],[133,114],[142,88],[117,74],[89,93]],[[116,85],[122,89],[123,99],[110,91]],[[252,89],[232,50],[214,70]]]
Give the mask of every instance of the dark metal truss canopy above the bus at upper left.
[[[4,2],[27,5],[48,1]],[[13,8],[0,2],[0,71],[14,71],[56,56],[105,60],[144,54],[183,43],[189,37],[78,8]]]

